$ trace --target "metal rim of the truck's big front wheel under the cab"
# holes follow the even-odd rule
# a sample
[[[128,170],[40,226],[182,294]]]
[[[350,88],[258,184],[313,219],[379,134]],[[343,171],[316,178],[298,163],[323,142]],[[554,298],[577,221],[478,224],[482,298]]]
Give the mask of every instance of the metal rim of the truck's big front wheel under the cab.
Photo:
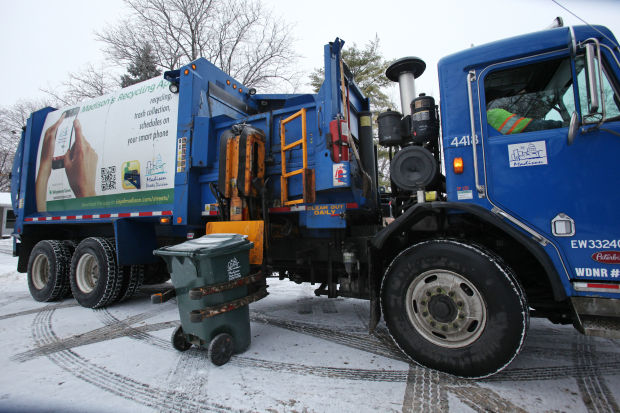
[[[459,348],[476,341],[486,326],[487,308],[478,289],[460,274],[426,271],[407,289],[407,316],[433,344]]]

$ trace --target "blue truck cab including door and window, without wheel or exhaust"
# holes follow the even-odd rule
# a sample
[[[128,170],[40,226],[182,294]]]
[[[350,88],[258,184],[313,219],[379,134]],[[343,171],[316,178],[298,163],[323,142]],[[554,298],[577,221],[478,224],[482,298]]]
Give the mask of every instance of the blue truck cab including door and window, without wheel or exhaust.
[[[613,35],[580,26],[498,41],[444,58],[439,76],[448,200],[479,205],[533,239],[553,263],[555,301],[570,298],[577,326],[598,330],[590,316],[620,314]],[[492,119],[498,110],[508,117]],[[450,167],[457,158],[460,174]]]

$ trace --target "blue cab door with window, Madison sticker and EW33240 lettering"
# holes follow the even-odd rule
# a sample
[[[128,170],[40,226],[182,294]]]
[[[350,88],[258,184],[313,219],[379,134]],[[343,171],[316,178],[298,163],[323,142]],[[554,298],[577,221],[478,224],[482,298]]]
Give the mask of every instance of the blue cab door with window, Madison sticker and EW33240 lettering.
[[[573,280],[620,281],[620,88],[603,63],[599,128],[587,115],[584,56],[525,58],[479,76],[487,196],[551,241]],[[582,127],[571,143],[573,112]]]

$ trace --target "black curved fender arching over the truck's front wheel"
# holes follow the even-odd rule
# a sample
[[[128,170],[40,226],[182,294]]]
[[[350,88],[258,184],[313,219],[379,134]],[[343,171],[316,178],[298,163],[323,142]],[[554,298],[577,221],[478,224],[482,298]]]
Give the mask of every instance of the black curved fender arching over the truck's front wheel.
[[[525,233],[521,232],[516,227],[502,220],[500,217],[494,215],[489,210],[484,209],[478,205],[465,204],[458,202],[428,202],[417,204],[409,208],[404,214],[399,216],[387,227],[377,232],[371,239],[371,245],[377,250],[381,250],[385,243],[394,235],[402,232],[403,230],[410,228],[412,225],[420,221],[422,218],[429,214],[434,214],[447,210],[457,210],[470,213],[480,218],[485,223],[498,228],[502,232],[506,233],[509,237],[516,240],[519,244],[523,245],[535,258],[545,270],[547,279],[551,284],[553,291],[553,297],[556,301],[566,300],[566,291],[560,281],[560,277],[555,269],[551,259],[545,252],[545,250],[536,243],[533,239],[528,237]]]

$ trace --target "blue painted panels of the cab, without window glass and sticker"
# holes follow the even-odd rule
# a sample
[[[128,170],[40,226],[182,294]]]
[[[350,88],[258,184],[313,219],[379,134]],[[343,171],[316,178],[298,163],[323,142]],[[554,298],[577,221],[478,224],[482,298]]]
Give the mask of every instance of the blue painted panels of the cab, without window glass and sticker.
[[[484,80],[494,70],[550,59],[570,60],[574,55],[573,41],[583,42],[589,38],[600,38],[601,43],[609,47],[603,47],[601,53],[608,62],[605,71],[613,90],[617,91],[620,79],[618,47],[613,34],[601,26],[564,27],[527,34],[472,48],[445,57],[439,63],[439,81],[445,86],[441,89],[441,110],[450,114],[442,118],[447,165],[451,165],[455,157],[471,159],[469,108],[462,104],[468,99],[467,84],[463,76],[454,76],[454,73],[475,71],[476,78],[472,82],[474,133],[478,136],[478,169],[480,185],[484,188],[478,194],[475,184],[472,185],[473,168],[466,168],[462,175],[448,173],[448,200],[473,203],[487,210],[499,208],[530,228],[529,235],[537,238],[553,261],[566,296],[592,295],[576,290],[575,282],[620,281],[620,262],[613,259],[601,262],[593,258],[596,253],[617,251],[620,247],[620,216],[616,207],[620,192],[615,191],[612,184],[620,177],[614,166],[620,151],[616,135],[620,132],[620,119],[616,116],[605,122],[606,130],[582,127],[582,133],[571,145],[566,140],[568,124],[559,129],[496,136],[484,116],[487,100]],[[585,102],[584,92],[583,88],[574,90],[573,107],[580,116],[586,111],[580,107]],[[617,108],[615,114],[618,114]],[[544,164],[515,167],[513,163],[511,166],[509,148],[533,141],[544,142]],[[472,199],[459,198],[459,188],[464,187],[472,190]],[[461,197],[463,194],[461,192]],[[553,234],[552,220],[559,213],[574,220],[574,235]],[[596,295],[618,297],[617,289],[608,291],[603,289]]]

